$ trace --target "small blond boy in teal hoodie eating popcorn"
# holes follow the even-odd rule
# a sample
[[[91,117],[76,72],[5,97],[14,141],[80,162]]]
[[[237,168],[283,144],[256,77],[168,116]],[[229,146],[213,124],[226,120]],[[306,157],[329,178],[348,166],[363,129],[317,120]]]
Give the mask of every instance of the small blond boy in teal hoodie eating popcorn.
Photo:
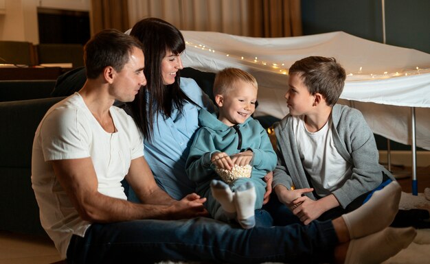
[[[196,182],[196,192],[207,197],[207,211],[215,219],[236,219],[243,228],[256,224],[255,209],[262,207],[266,183],[273,171],[276,154],[266,130],[251,115],[256,109],[256,79],[240,69],[220,71],[214,81],[218,117],[204,109],[199,112],[200,130],[190,148],[186,171]],[[236,154],[234,158],[230,156]],[[229,185],[217,175],[218,169],[233,171],[235,165],[252,160],[250,178],[237,178]]]

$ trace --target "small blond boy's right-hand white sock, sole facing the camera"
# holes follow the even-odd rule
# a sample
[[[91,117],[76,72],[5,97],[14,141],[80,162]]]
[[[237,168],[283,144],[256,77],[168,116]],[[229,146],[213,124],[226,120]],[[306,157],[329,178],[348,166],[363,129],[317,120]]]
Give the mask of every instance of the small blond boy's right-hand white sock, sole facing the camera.
[[[238,222],[242,228],[249,229],[256,225],[255,206],[256,189],[252,182],[241,184],[234,192],[234,204],[238,213]]]

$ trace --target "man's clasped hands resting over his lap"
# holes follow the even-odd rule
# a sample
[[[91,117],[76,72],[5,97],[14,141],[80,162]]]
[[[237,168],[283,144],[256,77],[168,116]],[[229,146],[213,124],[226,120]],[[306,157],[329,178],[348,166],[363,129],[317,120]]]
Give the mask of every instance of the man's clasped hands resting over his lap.
[[[206,198],[201,198],[196,193],[191,193],[181,200],[173,202],[171,207],[170,219],[185,219],[209,215],[203,206]]]

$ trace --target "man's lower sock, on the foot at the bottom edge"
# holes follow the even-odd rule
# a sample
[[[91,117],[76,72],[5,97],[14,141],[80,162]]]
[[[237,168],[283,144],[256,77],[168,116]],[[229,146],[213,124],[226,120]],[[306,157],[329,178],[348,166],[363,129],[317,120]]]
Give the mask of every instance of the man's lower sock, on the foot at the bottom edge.
[[[345,264],[382,263],[414,241],[416,230],[409,228],[385,228],[361,239],[353,239],[346,252]]]

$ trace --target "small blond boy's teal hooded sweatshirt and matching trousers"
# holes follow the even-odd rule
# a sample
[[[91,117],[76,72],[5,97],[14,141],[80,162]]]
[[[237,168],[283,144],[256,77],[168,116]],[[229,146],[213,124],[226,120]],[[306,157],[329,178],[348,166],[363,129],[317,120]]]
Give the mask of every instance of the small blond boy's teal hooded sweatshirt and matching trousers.
[[[276,166],[277,157],[269,136],[260,122],[249,117],[244,123],[229,127],[219,121],[216,114],[204,109],[199,112],[199,125],[190,148],[185,169],[188,178],[197,184],[196,192],[203,197],[210,193],[210,182],[220,180],[211,167],[211,156],[214,152],[225,152],[229,155],[250,149],[253,152],[253,169],[251,180],[256,187],[256,208],[261,208],[266,183],[262,178]],[[240,179],[230,184],[234,189]]]

